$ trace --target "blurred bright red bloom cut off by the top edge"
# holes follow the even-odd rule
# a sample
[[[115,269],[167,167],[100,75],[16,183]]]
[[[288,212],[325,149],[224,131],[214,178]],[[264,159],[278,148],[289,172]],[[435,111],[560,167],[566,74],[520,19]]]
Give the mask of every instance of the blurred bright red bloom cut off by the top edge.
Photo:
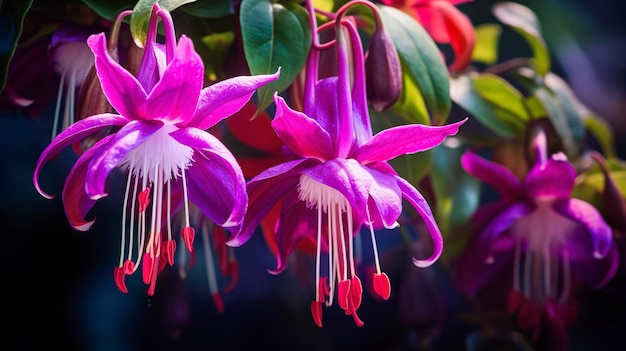
[[[470,19],[455,5],[472,0],[382,0],[398,8],[422,24],[434,41],[450,44],[454,58],[450,71],[465,69],[471,61],[476,32]]]

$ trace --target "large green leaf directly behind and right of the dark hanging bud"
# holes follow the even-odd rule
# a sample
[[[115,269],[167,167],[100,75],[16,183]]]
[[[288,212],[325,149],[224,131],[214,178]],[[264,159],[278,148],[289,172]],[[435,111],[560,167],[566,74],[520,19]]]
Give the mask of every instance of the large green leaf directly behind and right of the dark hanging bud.
[[[411,16],[390,6],[378,6],[385,30],[404,63],[402,74],[410,75],[419,87],[434,124],[443,124],[452,103],[448,68],[439,48]]]

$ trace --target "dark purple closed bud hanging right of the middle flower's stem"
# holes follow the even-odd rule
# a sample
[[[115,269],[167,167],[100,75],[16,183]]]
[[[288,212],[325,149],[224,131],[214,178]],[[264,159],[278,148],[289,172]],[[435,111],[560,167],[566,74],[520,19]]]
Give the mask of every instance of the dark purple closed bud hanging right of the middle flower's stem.
[[[367,99],[376,111],[382,111],[400,97],[402,68],[398,52],[387,32],[377,28],[370,38],[365,59]]]

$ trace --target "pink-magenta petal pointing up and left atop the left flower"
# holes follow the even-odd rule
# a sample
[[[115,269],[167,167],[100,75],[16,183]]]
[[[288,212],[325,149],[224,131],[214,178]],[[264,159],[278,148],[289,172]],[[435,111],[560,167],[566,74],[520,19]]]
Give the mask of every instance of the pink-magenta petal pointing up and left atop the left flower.
[[[130,72],[111,59],[104,33],[90,36],[87,44],[96,55],[98,78],[111,106],[129,119],[146,119],[146,92]]]

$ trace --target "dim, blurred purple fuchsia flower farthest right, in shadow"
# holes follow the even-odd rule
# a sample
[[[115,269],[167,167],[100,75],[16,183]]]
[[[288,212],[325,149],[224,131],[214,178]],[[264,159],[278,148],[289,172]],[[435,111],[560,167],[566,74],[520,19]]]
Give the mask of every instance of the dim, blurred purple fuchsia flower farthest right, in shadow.
[[[505,283],[512,283],[508,311],[535,340],[547,323],[553,345],[564,347],[564,327],[575,321],[578,281],[599,289],[619,262],[609,225],[592,205],[571,197],[574,167],[563,153],[548,157],[546,150],[546,136],[539,132],[533,140],[535,163],[523,181],[472,151],[463,155],[463,168],[503,199],[477,212],[485,224],[468,243],[456,273],[461,291],[475,296],[512,267]]]

